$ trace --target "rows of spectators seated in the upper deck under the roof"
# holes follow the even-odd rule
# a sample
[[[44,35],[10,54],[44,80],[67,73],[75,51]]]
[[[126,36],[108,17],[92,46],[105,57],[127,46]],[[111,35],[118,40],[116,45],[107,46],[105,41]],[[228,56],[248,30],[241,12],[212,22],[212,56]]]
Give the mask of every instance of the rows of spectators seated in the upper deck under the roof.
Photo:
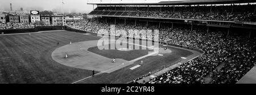
[[[114,9],[114,7],[111,8]],[[104,7],[99,7],[98,9],[104,9]],[[254,9],[255,5],[250,4],[229,6],[116,7],[116,11],[126,11],[125,13],[129,12],[128,14],[121,16],[201,20],[228,20],[242,22],[256,22],[256,15]]]

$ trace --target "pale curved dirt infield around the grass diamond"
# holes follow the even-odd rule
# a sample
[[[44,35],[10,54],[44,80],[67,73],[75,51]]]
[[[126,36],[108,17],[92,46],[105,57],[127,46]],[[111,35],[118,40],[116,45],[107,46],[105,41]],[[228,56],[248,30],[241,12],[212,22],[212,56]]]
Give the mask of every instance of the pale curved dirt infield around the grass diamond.
[[[116,63],[112,63],[113,59],[87,51],[88,48],[95,46],[97,46],[97,40],[67,44],[55,49],[55,51],[52,52],[52,59],[69,67],[98,72],[104,72],[127,62],[123,59],[117,59],[118,61]],[[66,53],[68,53],[67,59],[65,59]]]

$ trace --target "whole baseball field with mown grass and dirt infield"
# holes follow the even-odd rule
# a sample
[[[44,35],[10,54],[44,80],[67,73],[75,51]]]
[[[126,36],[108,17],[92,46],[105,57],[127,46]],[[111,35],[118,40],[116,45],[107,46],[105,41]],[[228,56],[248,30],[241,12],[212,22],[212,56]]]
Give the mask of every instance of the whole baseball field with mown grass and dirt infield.
[[[160,46],[160,55],[152,56],[155,52],[150,47],[133,42],[127,45],[146,49],[99,49],[99,39],[71,31],[0,35],[0,83],[127,83],[164,65],[176,64],[181,57],[200,54]]]

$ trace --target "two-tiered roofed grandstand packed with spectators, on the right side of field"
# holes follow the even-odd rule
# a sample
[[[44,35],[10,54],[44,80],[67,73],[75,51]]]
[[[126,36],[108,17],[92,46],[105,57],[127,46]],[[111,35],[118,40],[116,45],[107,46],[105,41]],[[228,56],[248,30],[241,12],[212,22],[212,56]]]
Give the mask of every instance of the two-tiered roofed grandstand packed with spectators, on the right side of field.
[[[104,24],[100,28],[114,24],[116,28],[124,27],[125,30],[159,29],[160,42],[195,47],[207,52],[163,75],[144,81],[146,83],[236,83],[255,65],[255,51],[251,49],[255,48],[255,1],[89,4],[97,6],[89,15],[97,19],[97,22],[91,23],[96,26]],[[88,26],[93,27],[92,24]],[[93,31],[97,33],[97,30]],[[177,37],[181,35],[185,38]],[[190,43],[184,44],[186,41]],[[243,52],[239,52],[242,48]]]

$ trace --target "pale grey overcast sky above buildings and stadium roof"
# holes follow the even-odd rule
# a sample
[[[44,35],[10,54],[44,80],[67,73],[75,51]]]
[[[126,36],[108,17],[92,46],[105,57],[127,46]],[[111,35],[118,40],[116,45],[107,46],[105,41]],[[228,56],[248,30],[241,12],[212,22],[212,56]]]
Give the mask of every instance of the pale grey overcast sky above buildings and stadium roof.
[[[62,12],[64,6],[65,13],[79,12],[89,13],[93,10],[92,5],[86,3],[155,3],[160,1],[180,1],[180,0],[0,0],[0,10],[10,10],[10,3],[13,4],[13,10],[51,10]],[[94,7],[95,8],[95,7]]]

